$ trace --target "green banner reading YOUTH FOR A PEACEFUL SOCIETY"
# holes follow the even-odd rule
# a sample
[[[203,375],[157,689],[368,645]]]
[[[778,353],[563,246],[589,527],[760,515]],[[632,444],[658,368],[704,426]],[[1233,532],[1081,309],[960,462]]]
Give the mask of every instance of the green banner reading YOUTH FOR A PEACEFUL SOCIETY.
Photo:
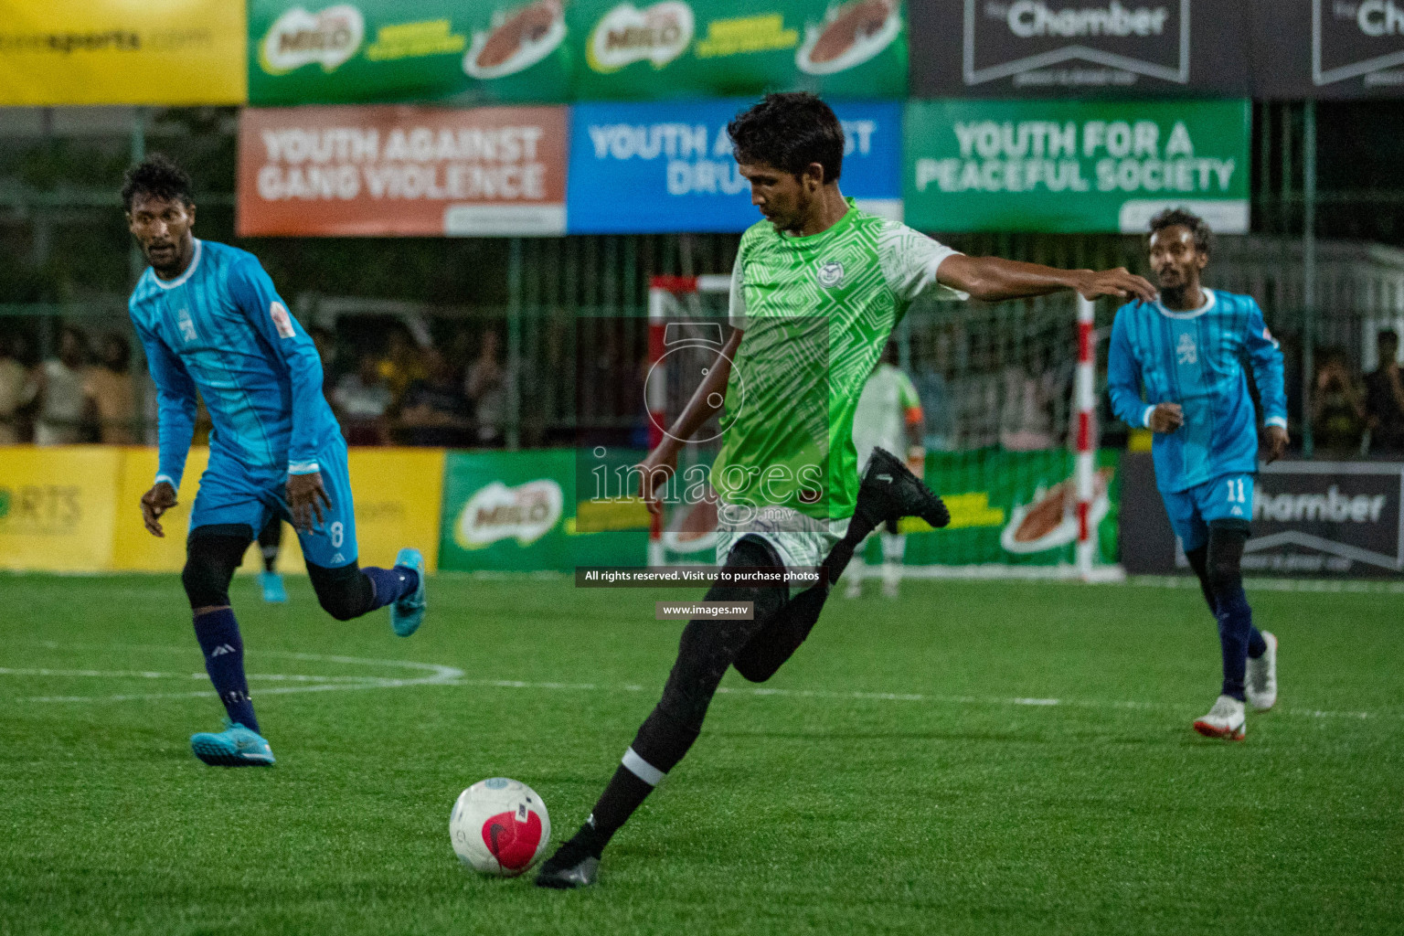
[[[1143,233],[1184,206],[1248,230],[1248,101],[911,101],[907,223]]]

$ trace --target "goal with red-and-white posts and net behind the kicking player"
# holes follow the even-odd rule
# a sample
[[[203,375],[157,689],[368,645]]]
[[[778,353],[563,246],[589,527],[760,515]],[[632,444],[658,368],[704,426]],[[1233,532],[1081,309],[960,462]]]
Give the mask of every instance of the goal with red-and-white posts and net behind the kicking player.
[[[650,448],[730,333],[729,289],[729,276],[650,283]],[[1116,574],[1118,455],[1097,445],[1097,334],[1092,303],[1070,296],[908,312],[893,340],[921,401],[927,481],[952,522],[903,521],[906,574]],[[682,448],[678,473],[710,464],[719,448],[713,420]],[[650,532],[650,564],[710,563],[715,525],[710,491],[668,504]],[[869,564],[882,561],[878,542],[868,550]]]

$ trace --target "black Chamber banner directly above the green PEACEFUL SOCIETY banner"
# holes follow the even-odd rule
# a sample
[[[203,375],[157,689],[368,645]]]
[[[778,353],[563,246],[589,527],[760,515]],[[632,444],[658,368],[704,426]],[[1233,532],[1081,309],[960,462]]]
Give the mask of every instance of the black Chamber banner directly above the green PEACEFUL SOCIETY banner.
[[[1224,0],[917,3],[911,6],[911,91],[922,97],[1247,97],[1247,4]]]

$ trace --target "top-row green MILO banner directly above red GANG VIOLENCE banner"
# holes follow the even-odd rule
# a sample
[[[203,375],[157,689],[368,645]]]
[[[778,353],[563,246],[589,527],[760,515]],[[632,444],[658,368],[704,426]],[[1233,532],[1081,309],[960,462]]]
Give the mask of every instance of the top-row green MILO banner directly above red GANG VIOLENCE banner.
[[[563,0],[250,0],[249,100],[564,101]]]

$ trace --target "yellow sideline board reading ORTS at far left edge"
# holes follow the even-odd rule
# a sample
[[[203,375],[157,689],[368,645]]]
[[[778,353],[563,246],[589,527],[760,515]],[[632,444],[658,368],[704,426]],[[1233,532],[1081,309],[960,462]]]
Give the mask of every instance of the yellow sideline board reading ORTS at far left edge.
[[[121,459],[98,445],[0,448],[0,567],[110,568]]]

